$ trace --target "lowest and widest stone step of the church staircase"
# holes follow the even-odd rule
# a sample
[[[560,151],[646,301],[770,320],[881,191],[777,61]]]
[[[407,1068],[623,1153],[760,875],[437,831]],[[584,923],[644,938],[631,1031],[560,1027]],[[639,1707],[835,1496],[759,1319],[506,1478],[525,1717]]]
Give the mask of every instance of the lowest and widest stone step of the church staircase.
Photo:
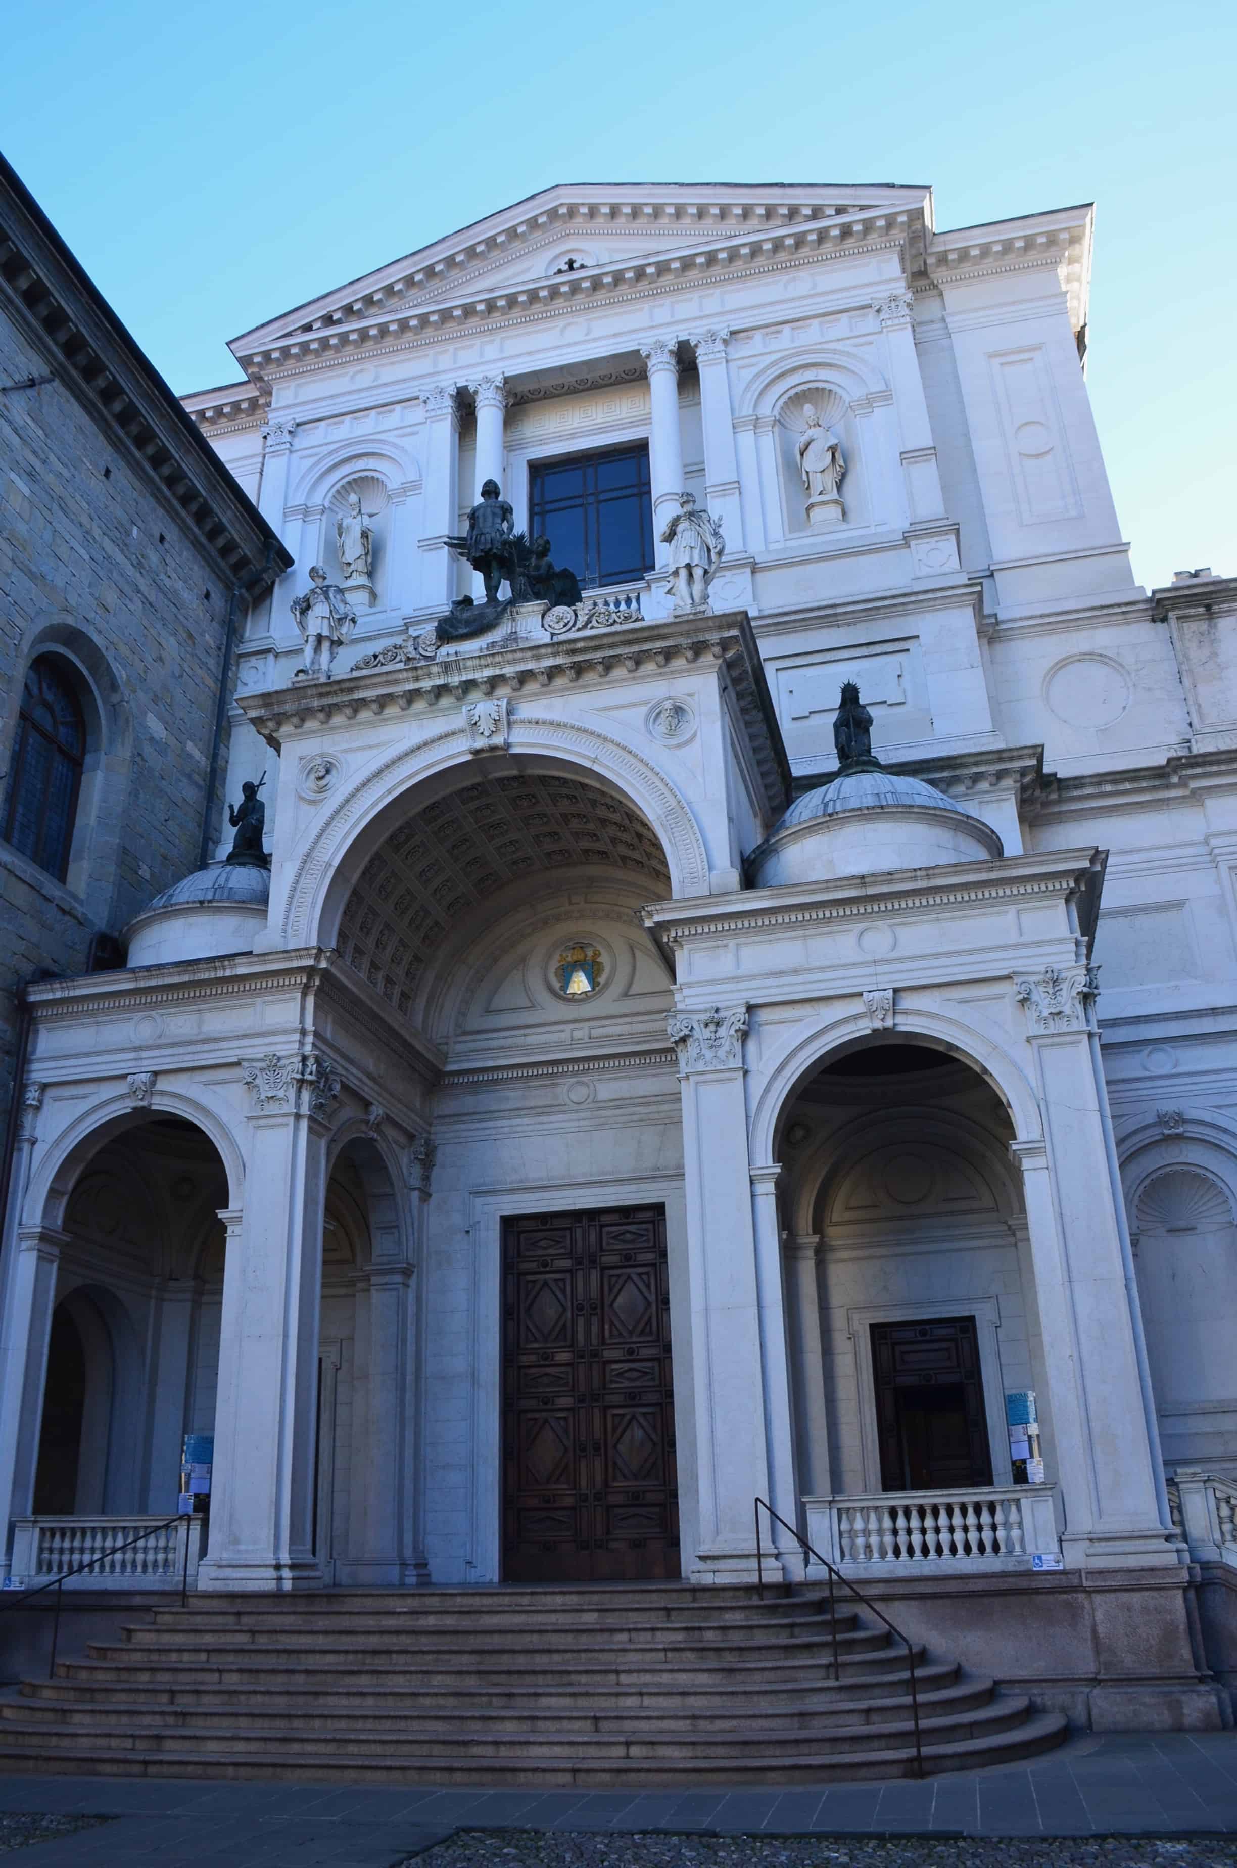
[[[1063,1713],[1030,1713],[1017,1724],[981,1730],[974,1737],[953,1734],[927,1739],[923,1745],[925,1775],[936,1771],[974,1771],[992,1763],[1013,1763],[1033,1758],[1059,1745],[1067,1722]],[[865,1734],[869,1735],[869,1734]],[[579,1788],[579,1790],[691,1790],[712,1784],[777,1786],[777,1784],[837,1784],[916,1776],[917,1763],[912,1745],[888,1745],[880,1750],[818,1748],[792,1760],[755,1756],[747,1745],[731,1754],[703,1760],[695,1754],[678,1758],[609,1758],[577,1760],[540,1754],[533,1762],[475,1754],[469,1760],[381,1756],[340,1758],[327,1752],[303,1750],[295,1758],[275,1760],[256,1747],[219,1750],[204,1758],[196,1748],[118,1752],[101,1747],[95,1737],[56,1743],[45,1726],[28,1734],[28,1743],[17,1743],[19,1728],[0,1722],[0,1767],[32,1773],[90,1775],[90,1776],[159,1776],[159,1778],[222,1778],[222,1780],[278,1780],[295,1784],[490,1784],[495,1788]]]

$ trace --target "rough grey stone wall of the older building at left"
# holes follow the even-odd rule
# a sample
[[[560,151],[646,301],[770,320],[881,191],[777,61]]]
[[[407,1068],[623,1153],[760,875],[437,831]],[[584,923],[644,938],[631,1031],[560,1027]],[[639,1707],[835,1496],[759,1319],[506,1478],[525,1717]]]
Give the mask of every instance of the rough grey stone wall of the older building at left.
[[[49,374],[0,316],[0,383]],[[0,841],[0,1130],[15,986],[82,971],[95,930],[120,932],[198,863],[230,600],[189,519],[64,375],[0,394],[0,798],[36,654],[73,665],[88,727],[65,884]]]

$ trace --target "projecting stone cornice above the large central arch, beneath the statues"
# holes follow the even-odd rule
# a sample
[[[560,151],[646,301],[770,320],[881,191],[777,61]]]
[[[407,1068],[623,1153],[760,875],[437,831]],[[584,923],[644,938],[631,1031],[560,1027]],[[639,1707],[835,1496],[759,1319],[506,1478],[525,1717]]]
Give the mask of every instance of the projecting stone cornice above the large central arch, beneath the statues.
[[[641,669],[695,663],[725,667],[768,807],[781,813],[790,794],[790,766],[746,611],[719,616],[669,616],[660,622],[617,622],[605,630],[478,650],[473,656],[441,661],[417,661],[413,656],[364,674],[237,695],[237,704],[263,740],[280,747],[306,725],[318,730],[338,715],[355,719],[361,712],[377,715],[387,708],[407,714],[439,704],[460,706],[469,695],[503,693],[531,699],[559,684],[572,686],[583,695],[617,672],[635,674]]]

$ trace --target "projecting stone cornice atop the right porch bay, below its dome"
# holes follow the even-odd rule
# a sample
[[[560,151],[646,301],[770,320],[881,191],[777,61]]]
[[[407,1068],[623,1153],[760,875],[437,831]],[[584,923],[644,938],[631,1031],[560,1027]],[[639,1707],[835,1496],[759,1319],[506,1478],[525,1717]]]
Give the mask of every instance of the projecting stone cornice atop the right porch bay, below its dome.
[[[770,928],[1065,897],[1078,902],[1078,923],[1089,934],[1102,876],[1104,857],[1099,850],[1050,850],[1043,856],[1007,856],[942,869],[903,869],[888,876],[845,876],[835,882],[658,902],[641,910],[641,921],[658,940],[678,947],[690,940],[719,940]]]

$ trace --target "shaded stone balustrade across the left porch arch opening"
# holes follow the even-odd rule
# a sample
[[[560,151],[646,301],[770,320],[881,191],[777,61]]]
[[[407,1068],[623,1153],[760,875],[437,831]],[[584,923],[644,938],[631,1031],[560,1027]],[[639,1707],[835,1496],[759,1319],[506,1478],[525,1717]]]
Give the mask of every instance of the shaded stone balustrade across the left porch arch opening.
[[[149,1530],[149,1537],[140,1537]],[[65,1580],[65,1590],[179,1590],[189,1539],[189,1582],[198,1575],[204,1519],[183,1517],[28,1517],[13,1521],[9,1588],[36,1590],[78,1564],[92,1569]],[[127,1549],[121,1549],[125,1545]]]

